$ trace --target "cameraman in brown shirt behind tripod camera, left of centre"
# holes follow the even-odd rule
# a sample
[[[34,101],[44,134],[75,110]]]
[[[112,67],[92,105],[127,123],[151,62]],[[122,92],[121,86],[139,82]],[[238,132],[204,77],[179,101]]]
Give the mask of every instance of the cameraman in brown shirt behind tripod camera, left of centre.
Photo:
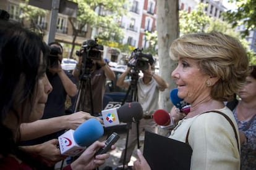
[[[80,76],[83,74],[82,68],[85,66],[83,65],[82,54],[83,50],[81,49],[79,55],[79,62],[73,70],[73,75],[77,81],[80,80]],[[84,102],[82,103],[82,111],[91,113],[91,115],[93,116],[98,116],[99,113],[101,113],[101,110],[103,110],[103,96],[105,93],[106,78],[114,80],[116,76],[114,75],[114,72],[109,68],[108,64],[105,63],[105,61],[103,60],[102,52],[100,59],[91,59],[94,58],[94,56],[87,56],[87,58],[89,58],[87,60],[90,60],[90,68],[85,68],[85,70],[89,69],[90,79],[88,80],[90,81],[87,81],[87,83],[91,84],[91,89],[90,86],[85,86],[85,89],[83,89],[85,90],[85,96],[83,96],[84,99],[82,100]],[[94,113],[92,113],[91,108],[90,91],[92,91],[92,103]]]

